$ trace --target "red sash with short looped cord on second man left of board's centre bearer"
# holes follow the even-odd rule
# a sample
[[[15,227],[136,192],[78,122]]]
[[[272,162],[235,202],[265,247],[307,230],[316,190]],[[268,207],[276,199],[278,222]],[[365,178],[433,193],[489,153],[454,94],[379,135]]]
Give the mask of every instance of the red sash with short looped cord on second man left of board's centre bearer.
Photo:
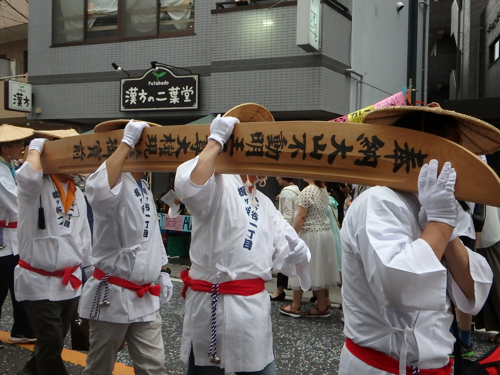
[[[92,308],[90,309],[90,318],[95,318],[97,316],[97,305],[98,306],[109,306],[109,301],[107,300],[107,286],[108,284],[113,284],[117,286],[124,287],[125,289],[135,291],[139,298],[142,298],[145,293],[149,293],[151,295],[159,296],[161,291],[160,285],[151,285],[151,283],[138,285],[134,284],[131,281],[125,280],[124,278],[117,276],[110,276],[109,274],[101,271],[99,268],[95,268],[92,277],[99,280],[97,284],[97,289],[95,289],[94,300],[92,303]],[[104,287],[103,298],[101,297],[101,289]]]

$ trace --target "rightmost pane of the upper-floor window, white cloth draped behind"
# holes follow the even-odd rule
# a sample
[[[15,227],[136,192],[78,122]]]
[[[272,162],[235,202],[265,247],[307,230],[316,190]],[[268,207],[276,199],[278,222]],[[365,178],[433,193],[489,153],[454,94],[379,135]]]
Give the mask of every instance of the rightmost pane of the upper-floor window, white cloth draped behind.
[[[159,32],[194,28],[194,0],[160,0]]]

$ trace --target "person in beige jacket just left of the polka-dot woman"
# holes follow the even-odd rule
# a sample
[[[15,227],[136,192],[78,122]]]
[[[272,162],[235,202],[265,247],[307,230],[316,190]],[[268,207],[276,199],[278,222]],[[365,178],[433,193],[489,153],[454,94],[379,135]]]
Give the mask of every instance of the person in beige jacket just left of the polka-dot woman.
[[[293,217],[297,209],[297,197],[300,194],[298,186],[293,184],[293,179],[288,177],[276,177],[279,186],[284,186],[279,194],[278,211],[283,215],[283,218],[293,225]],[[284,300],[284,289],[288,289],[288,276],[277,273],[276,290],[271,294],[271,301]],[[289,289],[288,289],[289,290]]]

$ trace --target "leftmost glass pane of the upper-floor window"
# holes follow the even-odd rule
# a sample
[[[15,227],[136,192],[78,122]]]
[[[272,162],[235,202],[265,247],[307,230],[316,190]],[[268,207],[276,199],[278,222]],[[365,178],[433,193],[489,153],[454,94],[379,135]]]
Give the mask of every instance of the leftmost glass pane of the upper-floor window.
[[[82,42],[84,0],[53,0],[52,6],[52,42]]]

